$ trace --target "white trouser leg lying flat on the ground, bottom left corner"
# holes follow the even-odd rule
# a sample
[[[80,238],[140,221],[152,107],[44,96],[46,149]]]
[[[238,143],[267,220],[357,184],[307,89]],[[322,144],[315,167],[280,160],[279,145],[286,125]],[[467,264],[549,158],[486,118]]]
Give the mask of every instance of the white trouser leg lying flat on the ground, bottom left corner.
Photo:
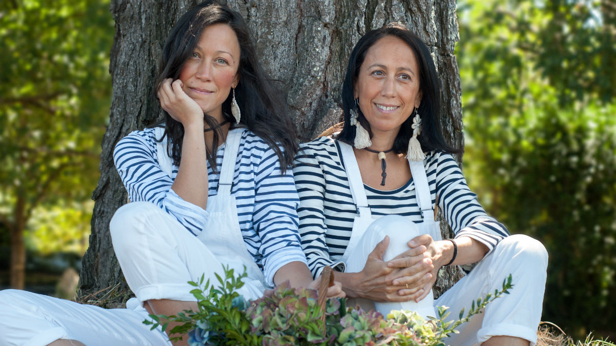
[[[43,346],[58,339],[86,345],[171,345],[142,322],[145,309],[105,309],[16,289],[0,291],[0,345]]]

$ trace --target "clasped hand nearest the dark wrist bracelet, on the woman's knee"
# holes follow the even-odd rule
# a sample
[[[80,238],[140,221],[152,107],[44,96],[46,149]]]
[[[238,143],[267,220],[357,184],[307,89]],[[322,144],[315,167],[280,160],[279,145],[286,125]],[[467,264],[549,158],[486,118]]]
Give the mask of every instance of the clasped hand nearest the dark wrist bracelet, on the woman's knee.
[[[421,291],[421,294],[414,297],[416,302],[424,299],[436,283],[439,269],[446,263],[444,250],[447,243],[451,244],[450,241],[434,241],[427,234],[419,235],[407,243],[410,247],[408,251],[397,255],[387,263],[390,268],[400,268],[402,271],[408,270],[409,273],[415,273],[412,276],[397,278],[394,283],[408,284],[409,291]],[[421,279],[418,280],[418,276]]]

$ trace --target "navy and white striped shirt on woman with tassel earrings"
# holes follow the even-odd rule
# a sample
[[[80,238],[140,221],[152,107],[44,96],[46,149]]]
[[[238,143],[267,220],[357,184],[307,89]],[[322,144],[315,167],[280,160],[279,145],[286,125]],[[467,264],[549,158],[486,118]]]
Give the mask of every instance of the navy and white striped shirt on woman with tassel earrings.
[[[325,265],[339,262],[349,244],[357,211],[341,153],[333,139],[321,137],[301,144],[295,165],[293,174],[300,201],[299,233],[310,272],[317,275]],[[424,166],[432,205],[439,196],[439,208],[456,238],[476,239],[490,253],[500,239],[509,235],[502,223],[485,213],[451,155],[440,151],[428,153]],[[397,214],[421,222],[412,178],[391,191],[376,190],[365,184],[364,188],[375,219]]]

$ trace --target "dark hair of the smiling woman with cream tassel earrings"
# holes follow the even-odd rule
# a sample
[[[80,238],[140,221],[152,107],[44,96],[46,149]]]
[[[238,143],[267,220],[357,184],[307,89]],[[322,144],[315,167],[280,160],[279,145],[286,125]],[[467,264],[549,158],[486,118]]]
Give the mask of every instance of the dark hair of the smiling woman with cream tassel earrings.
[[[451,147],[445,142],[441,131],[441,106],[439,97],[439,77],[434,67],[434,62],[426,44],[415,34],[399,23],[391,23],[383,28],[371,30],[353,48],[346,77],[342,83],[342,110],[344,111],[344,126],[338,135],[338,140],[353,145],[355,139],[355,126],[351,126],[350,110],[357,110],[357,118],[360,124],[367,129],[372,137],[370,124],[363,116],[362,111],[355,105],[354,87],[359,76],[359,70],[366,57],[368,49],[385,36],[395,36],[402,39],[415,52],[417,65],[419,66],[419,89],[422,92],[421,103],[417,109],[421,117],[421,132],[417,136],[423,151],[442,150],[448,153],[460,153],[461,150]],[[413,135],[413,117],[402,123],[400,131],[394,140],[394,151],[397,154],[406,153],[408,140]]]

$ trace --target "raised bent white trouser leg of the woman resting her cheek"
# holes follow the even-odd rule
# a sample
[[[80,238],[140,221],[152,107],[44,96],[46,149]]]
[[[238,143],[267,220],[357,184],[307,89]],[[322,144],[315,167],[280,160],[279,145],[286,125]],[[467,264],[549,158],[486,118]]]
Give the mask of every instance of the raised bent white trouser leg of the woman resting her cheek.
[[[159,207],[147,202],[125,204],[110,223],[111,239],[126,283],[140,302],[149,299],[195,301],[188,281],[201,275],[217,286],[222,264],[196,236]],[[238,290],[245,299],[261,297],[249,285]]]

